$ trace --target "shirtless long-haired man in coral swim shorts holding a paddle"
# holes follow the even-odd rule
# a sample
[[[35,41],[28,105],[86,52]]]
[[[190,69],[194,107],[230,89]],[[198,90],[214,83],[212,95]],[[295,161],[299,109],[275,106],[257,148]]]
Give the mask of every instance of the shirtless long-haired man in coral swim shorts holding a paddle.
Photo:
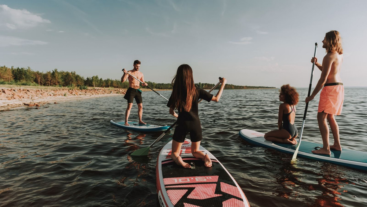
[[[344,101],[344,86],[340,78],[340,68],[343,63],[343,49],[341,45],[341,37],[338,31],[330,31],[326,33],[323,48],[326,49],[326,56],[322,61],[322,65],[317,62],[317,58],[313,57],[311,63],[321,71],[321,77],[311,96],[306,98],[306,103],[313,98],[322,88],[320,93],[319,109],[317,110],[317,122],[323,140],[323,147],[319,150],[313,150],[315,154],[331,154],[330,149],[341,151],[339,140],[339,126],[334,115],[340,115]],[[329,146],[329,126],[334,137],[334,144]]]

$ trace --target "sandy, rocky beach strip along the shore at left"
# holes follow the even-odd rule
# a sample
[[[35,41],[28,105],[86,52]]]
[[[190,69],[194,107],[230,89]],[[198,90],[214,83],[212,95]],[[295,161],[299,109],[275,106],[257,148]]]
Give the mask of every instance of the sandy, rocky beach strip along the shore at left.
[[[145,89],[146,90],[146,89]],[[68,100],[90,99],[104,96],[121,96],[126,89],[90,88],[68,89],[41,86],[0,86],[0,111],[23,107],[39,107],[44,104],[60,103]]]

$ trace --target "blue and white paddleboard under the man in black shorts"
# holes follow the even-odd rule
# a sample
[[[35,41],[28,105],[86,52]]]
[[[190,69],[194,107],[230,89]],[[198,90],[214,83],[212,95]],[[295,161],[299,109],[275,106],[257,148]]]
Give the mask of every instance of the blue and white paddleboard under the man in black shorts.
[[[116,125],[123,129],[130,129],[134,131],[140,132],[160,132],[165,131],[166,129],[170,128],[170,126],[159,126],[153,124],[139,124],[139,122],[129,121],[128,124],[130,126],[125,125],[125,120],[123,119],[112,119],[111,124]]]

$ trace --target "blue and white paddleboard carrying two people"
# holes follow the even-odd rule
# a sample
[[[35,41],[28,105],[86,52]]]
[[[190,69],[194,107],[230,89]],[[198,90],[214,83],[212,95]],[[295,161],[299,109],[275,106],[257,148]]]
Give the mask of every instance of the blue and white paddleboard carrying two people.
[[[250,144],[276,149],[285,153],[293,154],[297,147],[297,145],[273,143],[271,141],[267,141],[264,139],[264,133],[250,129],[242,129],[239,132],[239,135],[242,139],[246,140]],[[345,148],[342,151],[331,150],[331,155],[314,154],[311,152],[312,150],[315,150],[315,147],[320,146],[322,146],[322,144],[301,141],[297,156],[367,171],[367,152]]]

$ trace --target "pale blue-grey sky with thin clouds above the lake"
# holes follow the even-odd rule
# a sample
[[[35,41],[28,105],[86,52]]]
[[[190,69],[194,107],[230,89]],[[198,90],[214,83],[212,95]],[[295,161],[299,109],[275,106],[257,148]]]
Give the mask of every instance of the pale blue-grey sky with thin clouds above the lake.
[[[170,83],[189,64],[196,83],[307,88],[315,43],[341,33],[346,87],[367,86],[367,1],[0,0],[0,65]],[[321,72],[315,67],[313,86]]]

